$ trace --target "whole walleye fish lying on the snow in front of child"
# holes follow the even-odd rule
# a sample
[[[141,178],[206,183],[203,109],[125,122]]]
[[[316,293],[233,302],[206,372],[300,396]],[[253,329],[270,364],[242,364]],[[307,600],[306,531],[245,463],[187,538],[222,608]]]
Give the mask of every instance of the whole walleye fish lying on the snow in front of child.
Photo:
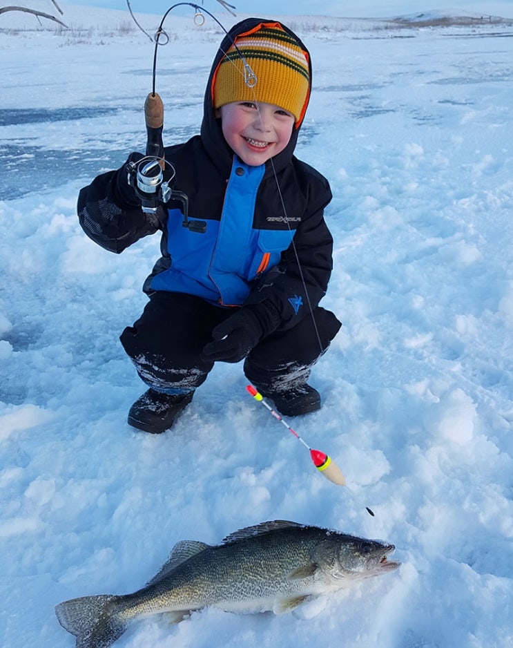
[[[211,546],[178,542],[146,587],[126,595],[74,598],[55,607],[77,648],[108,648],[128,622],[158,613],[173,621],[206,606],[283,613],[307,598],[397,569],[393,544],[275,520],[242,528]]]

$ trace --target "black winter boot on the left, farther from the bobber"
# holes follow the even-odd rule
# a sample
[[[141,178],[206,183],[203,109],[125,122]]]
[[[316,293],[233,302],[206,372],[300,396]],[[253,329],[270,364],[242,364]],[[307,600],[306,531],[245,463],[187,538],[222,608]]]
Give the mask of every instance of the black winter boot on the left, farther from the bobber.
[[[130,408],[128,424],[159,435],[171,428],[178,414],[192,401],[193,394],[163,394],[150,388]]]

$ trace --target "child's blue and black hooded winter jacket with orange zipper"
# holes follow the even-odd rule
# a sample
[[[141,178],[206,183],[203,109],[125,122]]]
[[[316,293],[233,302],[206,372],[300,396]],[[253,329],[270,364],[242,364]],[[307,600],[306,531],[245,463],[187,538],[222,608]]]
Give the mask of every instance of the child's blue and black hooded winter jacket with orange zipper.
[[[248,19],[238,32],[259,22]],[[331,191],[320,173],[293,156],[299,128],[262,166],[244,164],[226,144],[211,104],[211,79],[238,32],[226,37],[213,62],[201,134],[164,151],[175,169],[173,187],[188,196],[189,218],[205,221],[206,231],[182,227],[180,201],[159,207],[156,216],[143,213],[135,195],[126,198],[124,167],[84,187],[77,209],[86,234],[117,253],[162,230],[162,256],[144,283],[148,294],[184,292],[221,307],[269,300],[286,330],[327,289],[333,240],[323,213]]]

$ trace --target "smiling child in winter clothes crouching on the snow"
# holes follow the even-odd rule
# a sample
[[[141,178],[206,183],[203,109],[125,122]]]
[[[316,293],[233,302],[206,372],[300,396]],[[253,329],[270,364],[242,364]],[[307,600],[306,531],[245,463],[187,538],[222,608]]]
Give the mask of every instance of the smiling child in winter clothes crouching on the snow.
[[[308,50],[284,25],[250,18],[223,39],[201,134],[164,151],[204,232],[182,227],[179,200],[142,211],[126,171],[139,153],[81,189],[81,227],[101,247],[119,254],[162,231],[149,301],[121,336],[148,385],[131,426],[171,428],[216,361],[244,359],[247,379],[285,416],[320,408],[307,380],[340,322],[318,306],[332,267],[331,191],[293,157],[310,88]]]

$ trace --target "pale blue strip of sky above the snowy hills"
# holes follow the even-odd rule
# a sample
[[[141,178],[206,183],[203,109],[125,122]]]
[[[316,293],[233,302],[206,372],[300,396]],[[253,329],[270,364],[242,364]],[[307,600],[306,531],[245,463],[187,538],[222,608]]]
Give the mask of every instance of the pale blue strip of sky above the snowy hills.
[[[258,17],[267,15],[328,15],[382,18],[409,15],[429,10],[458,10],[513,18],[513,0],[229,0],[236,13]],[[80,0],[69,4],[125,10],[126,0]],[[220,10],[216,0],[197,0],[207,10]],[[134,12],[164,14],[171,0],[130,0]]]

